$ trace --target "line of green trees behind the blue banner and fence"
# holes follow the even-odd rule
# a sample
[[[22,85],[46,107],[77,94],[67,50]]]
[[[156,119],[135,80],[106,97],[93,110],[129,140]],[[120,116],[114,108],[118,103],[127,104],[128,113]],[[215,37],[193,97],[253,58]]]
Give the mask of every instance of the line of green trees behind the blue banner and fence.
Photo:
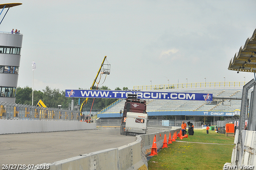
[[[92,89],[96,90],[96,86],[94,86]],[[79,88],[81,89],[81,88]],[[98,88],[98,90],[111,90],[107,86],[101,86]],[[123,87],[123,89],[117,87],[115,90],[128,90],[127,87]],[[33,95],[33,105],[36,106],[38,101],[41,99],[44,104],[48,108],[58,108],[58,105],[62,105],[62,108],[68,108],[71,106],[71,98],[65,97],[65,91],[60,91],[59,89],[51,89],[49,86],[46,86],[45,89],[42,91],[40,90],[34,90]],[[86,98],[74,98],[74,104],[78,105],[82,104],[82,102]],[[94,100],[94,101],[93,101]],[[115,102],[117,99],[114,98],[89,98],[86,105],[84,105],[84,110],[90,111],[98,111],[106,108],[113,102]],[[17,87],[16,88],[16,103],[17,104],[28,104],[32,105],[32,88],[29,86],[26,86],[24,88]],[[93,105],[92,105],[93,103]]]

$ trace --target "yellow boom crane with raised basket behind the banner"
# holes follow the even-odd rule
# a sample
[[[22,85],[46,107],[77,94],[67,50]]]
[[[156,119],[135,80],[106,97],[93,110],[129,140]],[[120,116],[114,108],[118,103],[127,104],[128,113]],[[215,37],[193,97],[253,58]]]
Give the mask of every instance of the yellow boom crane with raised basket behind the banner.
[[[94,86],[94,84],[95,84],[95,82],[96,82],[96,80],[97,80],[99,74],[106,74],[106,75],[110,74],[110,64],[108,63],[108,61],[107,61],[106,59],[107,59],[107,56],[104,57],[103,62],[102,62],[102,64],[100,65],[100,69],[98,70],[98,73],[97,73],[97,75],[96,75],[96,78],[94,79],[94,81],[93,81],[93,83],[92,83],[92,86],[90,87],[90,90],[92,90],[92,88],[93,88],[93,86]],[[107,63],[104,64],[105,61],[106,61]],[[98,82],[98,83],[99,83],[99,82]],[[83,108],[84,108],[84,105],[87,103],[87,101],[88,101],[88,98],[86,98],[86,99],[84,100],[84,102],[82,102],[82,104],[81,104],[81,107],[80,107],[80,116],[83,115]]]

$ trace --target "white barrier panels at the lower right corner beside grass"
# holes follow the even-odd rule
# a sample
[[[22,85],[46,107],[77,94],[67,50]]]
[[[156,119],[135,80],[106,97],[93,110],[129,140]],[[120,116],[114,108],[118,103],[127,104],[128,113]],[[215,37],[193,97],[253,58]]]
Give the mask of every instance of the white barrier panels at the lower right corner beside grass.
[[[243,152],[242,158],[238,158],[237,155],[238,133],[239,131],[236,130],[231,163],[224,164],[223,170],[244,170],[256,167],[256,131],[242,130],[242,148],[239,150],[239,152]]]

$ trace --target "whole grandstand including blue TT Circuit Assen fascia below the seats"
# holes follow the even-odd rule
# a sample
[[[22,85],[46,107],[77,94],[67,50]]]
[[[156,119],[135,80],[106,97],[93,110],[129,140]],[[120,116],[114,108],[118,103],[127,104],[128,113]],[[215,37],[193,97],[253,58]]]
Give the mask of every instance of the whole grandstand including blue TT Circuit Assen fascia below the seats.
[[[218,84],[218,83],[214,83]],[[230,84],[226,82],[226,84]],[[239,83],[239,86],[197,86],[194,88],[168,88],[158,90],[143,90],[143,91],[158,91],[158,92],[186,92],[186,93],[204,93],[213,94],[214,97],[242,97],[242,89],[245,83]],[[190,86],[187,86],[190,87]],[[145,88],[144,88],[145,89]],[[147,88],[150,89],[150,88]],[[156,89],[156,88],[154,88]],[[248,92],[248,98],[252,90]],[[120,117],[120,110],[124,109],[125,100],[120,99],[117,104],[108,109],[104,109],[98,113],[98,117]],[[149,116],[166,116],[166,115],[186,115],[186,116],[234,116],[240,114],[241,100],[217,99],[213,101],[193,101],[193,100],[146,100]],[[250,103],[250,101],[249,101]],[[250,105],[249,105],[250,106]],[[207,114],[206,114],[207,113]],[[218,114],[214,114],[218,113]],[[224,113],[224,114],[220,114]],[[228,113],[228,114],[225,114]]]

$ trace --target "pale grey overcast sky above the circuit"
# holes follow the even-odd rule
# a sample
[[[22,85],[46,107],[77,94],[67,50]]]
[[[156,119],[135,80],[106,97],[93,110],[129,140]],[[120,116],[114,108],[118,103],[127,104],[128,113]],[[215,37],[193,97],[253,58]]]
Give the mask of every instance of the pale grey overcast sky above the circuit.
[[[116,87],[246,82],[228,65],[256,28],[255,0],[19,0],[0,31],[23,34],[18,86],[89,89],[104,56]],[[11,3],[1,0],[1,3]],[[2,17],[4,14],[0,16]],[[103,81],[101,81],[103,82]]]

